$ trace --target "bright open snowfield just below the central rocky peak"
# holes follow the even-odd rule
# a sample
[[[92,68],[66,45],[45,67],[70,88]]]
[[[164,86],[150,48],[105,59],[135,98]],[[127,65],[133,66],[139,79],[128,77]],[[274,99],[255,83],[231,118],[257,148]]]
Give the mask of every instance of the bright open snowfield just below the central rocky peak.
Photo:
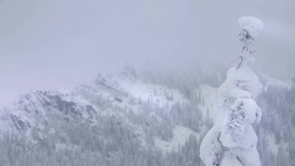
[[[93,88],[96,91],[94,94],[104,99],[111,99],[114,105],[131,109],[136,114],[141,110],[141,105],[138,103],[139,101],[148,101],[151,105],[160,107],[171,106],[178,101],[180,103],[188,102],[178,89],[166,88],[154,83],[145,83],[138,78],[138,76],[136,76],[137,79],[130,78],[133,75],[134,74],[130,76],[128,73],[124,73],[124,75],[100,74],[98,80],[103,81],[107,87],[112,87],[112,89],[104,89],[100,88],[100,85],[94,85]],[[114,96],[114,89],[127,95]],[[120,101],[115,100],[115,98],[119,98]],[[134,103],[130,102],[131,98],[135,100]]]

